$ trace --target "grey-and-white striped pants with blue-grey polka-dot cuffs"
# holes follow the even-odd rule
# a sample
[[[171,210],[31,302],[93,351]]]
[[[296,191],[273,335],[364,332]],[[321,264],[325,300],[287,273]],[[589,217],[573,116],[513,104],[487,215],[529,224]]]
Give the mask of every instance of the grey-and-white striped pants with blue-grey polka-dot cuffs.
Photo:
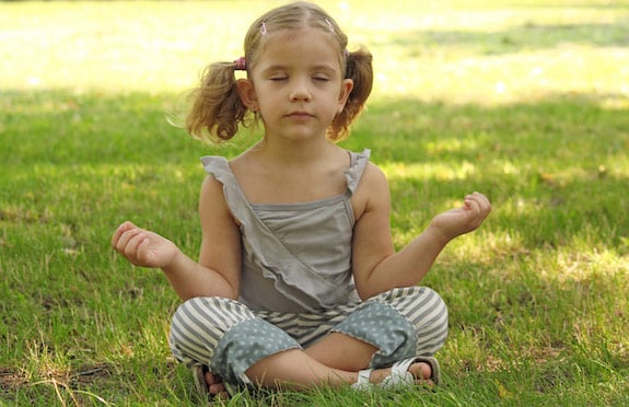
[[[187,365],[205,364],[230,384],[249,384],[245,372],[288,349],[304,349],[329,333],[377,348],[370,368],[415,356],[432,356],[447,336],[447,309],[426,287],[397,288],[364,302],[322,313],[252,311],[223,298],[194,298],[175,312],[170,345]]]

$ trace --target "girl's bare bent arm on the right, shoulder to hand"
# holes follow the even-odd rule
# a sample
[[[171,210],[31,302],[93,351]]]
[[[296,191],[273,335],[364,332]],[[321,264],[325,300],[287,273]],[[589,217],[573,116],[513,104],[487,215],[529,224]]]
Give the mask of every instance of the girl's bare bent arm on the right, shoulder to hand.
[[[365,172],[359,190],[362,189],[361,194],[366,198],[354,229],[352,248],[354,280],[362,299],[395,287],[419,283],[445,245],[477,229],[491,210],[489,200],[474,193],[465,198],[462,208],[436,216],[426,231],[394,253],[386,178],[375,166]]]

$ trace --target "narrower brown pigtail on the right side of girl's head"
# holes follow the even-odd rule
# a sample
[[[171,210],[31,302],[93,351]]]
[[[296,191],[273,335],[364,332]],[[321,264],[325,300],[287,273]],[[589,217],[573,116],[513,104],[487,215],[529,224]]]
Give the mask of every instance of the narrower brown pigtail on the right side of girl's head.
[[[345,108],[333,120],[328,137],[333,141],[342,140],[349,133],[349,126],[362,112],[373,85],[372,55],[362,47],[356,53],[347,53],[345,78],[353,81]]]

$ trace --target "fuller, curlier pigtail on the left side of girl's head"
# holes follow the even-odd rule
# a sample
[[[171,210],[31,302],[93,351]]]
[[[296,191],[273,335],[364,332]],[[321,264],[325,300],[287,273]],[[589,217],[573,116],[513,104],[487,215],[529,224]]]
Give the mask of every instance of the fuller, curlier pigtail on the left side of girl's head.
[[[200,85],[189,94],[191,108],[186,118],[188,132],[202,141],[230,140],[246,127],[246,106],[236,90],[234,62],[217,62],[206,68]]]

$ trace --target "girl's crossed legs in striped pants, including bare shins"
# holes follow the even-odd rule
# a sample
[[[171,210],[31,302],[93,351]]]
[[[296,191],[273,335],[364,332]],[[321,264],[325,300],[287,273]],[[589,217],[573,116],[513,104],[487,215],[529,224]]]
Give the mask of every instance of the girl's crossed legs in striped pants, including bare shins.
[[[206,382],[211,394],[221,394],[223,379],[271,388],[337,387],[356,383],[366,368],[376,368],[370,381],[378,383],[391,373],[386,367],[434,353],[447,334],[445,305],[426,288],[395,289],[346,316],[335,315],[340,316],[329,319],[331,330],[300,346],[241,303],[193,299],[173,317],[171,347],[183,362],[211,364],[213,374],[207,373]],[[432,375],[423,362],[411,363],[408,371],[418,382]]]

